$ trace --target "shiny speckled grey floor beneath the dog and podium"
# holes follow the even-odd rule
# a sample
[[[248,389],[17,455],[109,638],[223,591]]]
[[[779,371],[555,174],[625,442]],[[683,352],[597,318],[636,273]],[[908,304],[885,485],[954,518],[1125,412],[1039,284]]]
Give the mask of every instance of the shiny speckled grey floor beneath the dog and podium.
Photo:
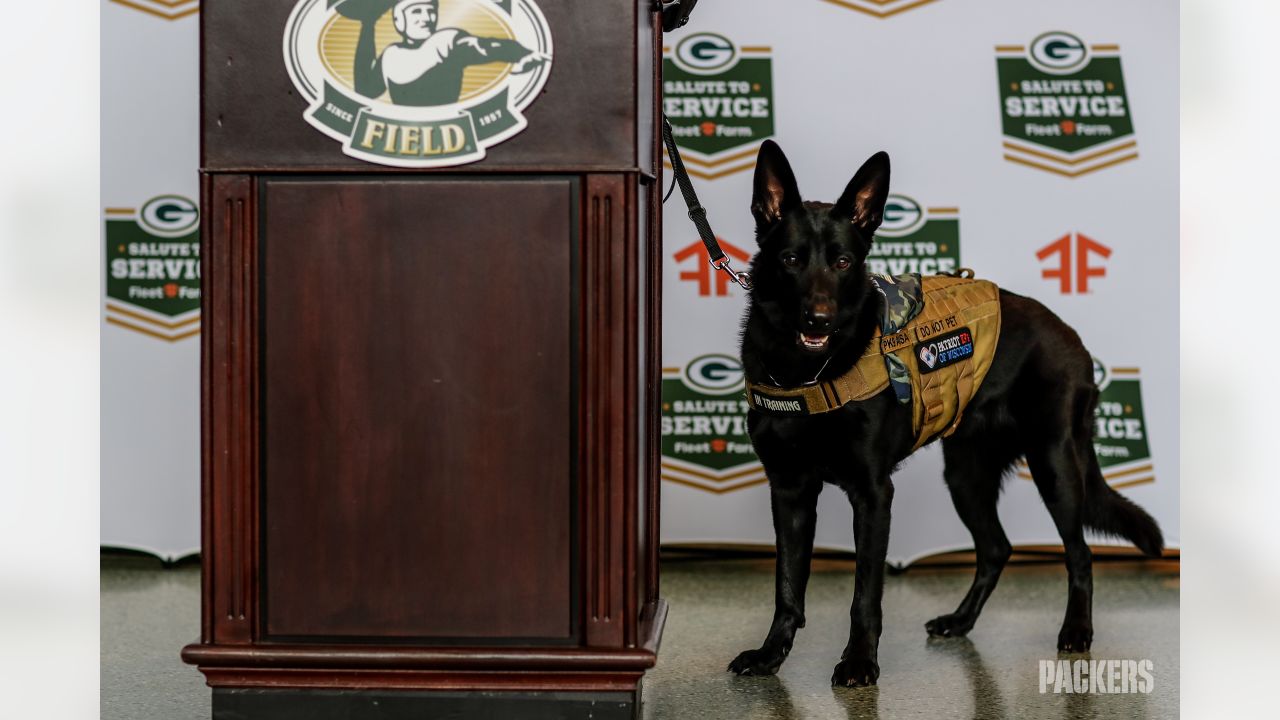
[[[692,719],[1165,719],[1178,716],[1176,562],[1098,562],[1093,660],[1151,660],[1149,694],[1039,692],[1039,661],[1057,660],[1066,602],[1059,564],[1006,570],[969,638],[931,641],[924,621],[964,594],[970,568],[913,568],[884,587],[881,682],[832,689],[852,596],[852,562],[815,562],[808,628],[773,678],[724,671],[755,647],[772,616],[772,559],[677,556],[663,562],[671,603],[658,666],[645,680],[644,715]],[[178,659],[200,630],[200,569],[104,555],[101,644],[104,720],[206,720],[209,688]]]

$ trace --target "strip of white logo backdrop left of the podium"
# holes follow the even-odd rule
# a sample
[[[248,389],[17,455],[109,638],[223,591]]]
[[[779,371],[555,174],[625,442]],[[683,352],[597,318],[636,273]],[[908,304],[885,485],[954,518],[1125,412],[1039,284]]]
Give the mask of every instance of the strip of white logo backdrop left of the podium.
[[[102,544],[200,551],[198,0],[102,1]]]

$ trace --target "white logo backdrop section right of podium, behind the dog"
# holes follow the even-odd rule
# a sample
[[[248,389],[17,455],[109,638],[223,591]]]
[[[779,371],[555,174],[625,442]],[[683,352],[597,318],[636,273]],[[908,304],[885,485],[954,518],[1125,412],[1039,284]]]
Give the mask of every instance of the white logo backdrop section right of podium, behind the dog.
[[[1103,474],[1178,546],[1176,4],[708,1],[666,40],[664,110],[735,268],[756,250],[765,138],[827,202],[888,151],[870,270],[973,268],[1075,327]],[[664,223],[662,539],[772,544],[737,360],[745,292],[708,266],[678,193]],[[893,484],[891,562],[973,546],[937,443]],[[1000,515],[1015,544],[1061,544],[1025,465]],[[854,550],[831,487],[817,544]]]

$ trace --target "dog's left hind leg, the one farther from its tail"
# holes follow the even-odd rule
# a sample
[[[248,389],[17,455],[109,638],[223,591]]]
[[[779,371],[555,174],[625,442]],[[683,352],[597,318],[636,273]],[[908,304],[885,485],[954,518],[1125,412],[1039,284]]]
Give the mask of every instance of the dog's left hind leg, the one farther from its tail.
[[[996,514],[1000,483],[1009,466],[1000,450],[984,447],[973,438],[951,437],[942,441],[942,457],[946,462],[943,478],[960,520],[973,536],[978,570],[956,611],[924,624],[931,635],[968,634],[977,623],[982,606],[991,597],[991,591],[996,589],[1000,573],[1012,553],[1005,528],[1000,524],[1000,515]]]

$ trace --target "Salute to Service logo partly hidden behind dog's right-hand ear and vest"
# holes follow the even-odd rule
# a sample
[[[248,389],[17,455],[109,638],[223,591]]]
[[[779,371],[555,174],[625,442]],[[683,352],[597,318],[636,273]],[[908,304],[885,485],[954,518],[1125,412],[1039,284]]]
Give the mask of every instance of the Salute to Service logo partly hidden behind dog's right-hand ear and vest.
[[[934,275],[960,268],[960,210],[922,208],[905,195],[890,195],[867,269],[881,275]]]

